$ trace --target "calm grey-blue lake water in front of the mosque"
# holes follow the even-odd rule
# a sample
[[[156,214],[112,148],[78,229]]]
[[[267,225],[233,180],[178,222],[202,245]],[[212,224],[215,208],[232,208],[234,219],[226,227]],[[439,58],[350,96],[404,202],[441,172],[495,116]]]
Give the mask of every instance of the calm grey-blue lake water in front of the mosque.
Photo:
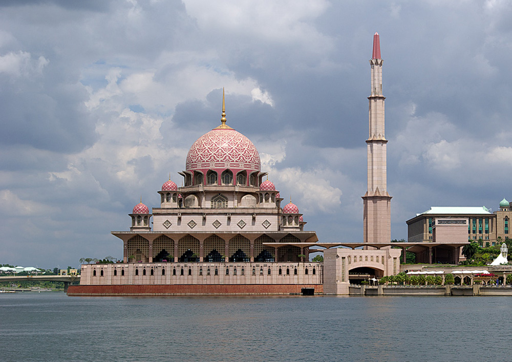
[[[512,360],[510,297],[0,294],[2,361]]]

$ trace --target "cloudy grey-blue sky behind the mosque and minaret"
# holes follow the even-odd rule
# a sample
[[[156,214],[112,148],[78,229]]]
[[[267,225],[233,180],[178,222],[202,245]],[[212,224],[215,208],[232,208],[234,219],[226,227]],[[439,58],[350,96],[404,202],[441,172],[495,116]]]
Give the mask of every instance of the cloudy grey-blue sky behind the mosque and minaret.
[[[3,0],[0,264],[122,258],[140,198],[227,124],[321,242],[361,242],[373,34],[392,239],[512,199],[512,3]]]

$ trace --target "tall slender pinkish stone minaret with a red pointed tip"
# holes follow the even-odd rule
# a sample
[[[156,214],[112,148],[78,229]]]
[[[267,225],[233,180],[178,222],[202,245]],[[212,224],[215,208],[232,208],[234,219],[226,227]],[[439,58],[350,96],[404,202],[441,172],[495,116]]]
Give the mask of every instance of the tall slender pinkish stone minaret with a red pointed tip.
[[[382,59],[379,34],[373,36],[370,59],[372,89],[369,100],[368,190],[364,203],[363,233],[365,243],[391,241],[391,196],[386,185],[386,140],[384,134],[384,100],[382,95]]]

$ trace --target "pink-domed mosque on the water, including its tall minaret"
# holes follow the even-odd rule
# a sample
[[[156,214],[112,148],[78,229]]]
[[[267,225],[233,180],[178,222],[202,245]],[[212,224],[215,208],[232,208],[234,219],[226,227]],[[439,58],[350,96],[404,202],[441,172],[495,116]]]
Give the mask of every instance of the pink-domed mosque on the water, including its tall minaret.
[[[130,231],[112,231],[123,243],[123,262],[82,265],[80,285],[70,286],[68,294],[348,294],[350,282],[397,274],[406,246],[390,247],[377,33],[370,66],[362,243],[321,243],[315,231],[304,230],[299,208],[291,200],[283,205],[279,190],[261,171],[257,148],[227,124],[223,93],[221,124],[190,147],[179,173],[183,186],[169,177],[158,190],[159,207],[150,212],[142,202],[135,205]],[[322,251],[324,262],[309,261],[312,251]]]

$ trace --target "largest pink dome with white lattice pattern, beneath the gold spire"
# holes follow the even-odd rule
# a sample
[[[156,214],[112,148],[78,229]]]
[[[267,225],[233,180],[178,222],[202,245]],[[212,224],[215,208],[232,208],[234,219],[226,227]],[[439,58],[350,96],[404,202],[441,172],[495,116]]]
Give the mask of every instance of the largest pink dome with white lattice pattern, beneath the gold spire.
[[[260,154],[254,144],[233,129],[214,129],[190,147],[186,171],[205,168],[238,168],[260,171]]]

